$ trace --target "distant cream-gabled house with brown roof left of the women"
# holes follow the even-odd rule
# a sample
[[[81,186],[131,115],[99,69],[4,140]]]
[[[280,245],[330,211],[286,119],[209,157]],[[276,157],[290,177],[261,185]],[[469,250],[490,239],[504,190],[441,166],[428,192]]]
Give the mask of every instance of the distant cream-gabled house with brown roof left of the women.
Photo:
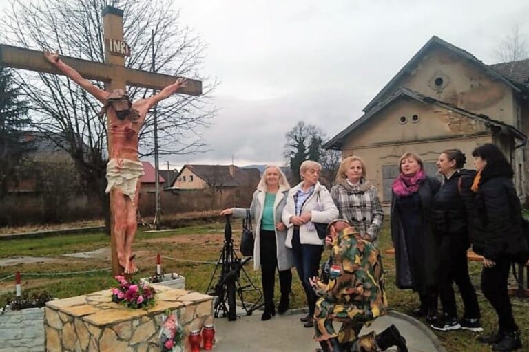
[[[178,173],[172,187],[180,190],[203,188],[256,187],[260,178],[257,168],[239,168],[235,165],[186,164]]]

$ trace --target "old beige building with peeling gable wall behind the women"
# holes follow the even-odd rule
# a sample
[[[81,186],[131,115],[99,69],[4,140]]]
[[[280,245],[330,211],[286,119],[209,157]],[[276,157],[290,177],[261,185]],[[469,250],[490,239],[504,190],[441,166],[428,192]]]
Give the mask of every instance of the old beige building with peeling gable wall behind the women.
[[[486,65],[433,36],[376,94],[360,117],[326,143],[342,157],[358,155],[386,207],[400,156],[419,154],[435,175],[442,151],[459,148],[473,168],[476,146],[495,143],[515,169],[515,186],[528,194],[529,60]]]

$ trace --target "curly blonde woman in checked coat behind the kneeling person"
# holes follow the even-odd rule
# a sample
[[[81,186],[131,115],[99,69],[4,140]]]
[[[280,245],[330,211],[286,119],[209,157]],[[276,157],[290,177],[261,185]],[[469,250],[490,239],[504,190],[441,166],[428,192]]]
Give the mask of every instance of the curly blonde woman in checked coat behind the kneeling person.
[[[331,197],[338,208],[338,217],[353,225],[362,239],[377,239],[384,211],[380,205],[377,188],[366,181],[366,166],[361,157],[346,157],[331,189]]]

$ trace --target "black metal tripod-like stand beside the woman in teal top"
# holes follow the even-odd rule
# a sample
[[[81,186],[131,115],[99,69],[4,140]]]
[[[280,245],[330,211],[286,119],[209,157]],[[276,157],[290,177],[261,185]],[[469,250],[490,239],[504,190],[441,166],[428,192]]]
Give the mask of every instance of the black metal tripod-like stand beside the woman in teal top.
[[[253,284],[244,267],[250,260],[251,257],[240,259],[237,256],[234,250],[234,240],[231,238],[231,223],[227,216],[224,245],[206,289],[206,294],[216,296],[214,300],[215,318],[227,317],[229,321],[233,321],[237,319],[237,316],[250,316],[254,310],[264,305],[261,290]],[[245,301],[245,294],[248,292],[257,292],[258,299],[255,303]],[[237,314],[237,297],[246,314]]]

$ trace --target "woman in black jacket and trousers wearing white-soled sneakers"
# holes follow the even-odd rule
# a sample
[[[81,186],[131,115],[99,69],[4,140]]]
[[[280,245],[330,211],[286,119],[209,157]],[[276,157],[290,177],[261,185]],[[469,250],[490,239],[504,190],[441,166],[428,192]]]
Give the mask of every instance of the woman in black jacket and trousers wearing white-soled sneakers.
[[[439,255],[438,288],[443,305],[443,316],[431,327],[441,331],[466,329],[483,331],[479,323],[479,304],[468,275],[466,251],[468,240],[468,214],[462,188],[470,188],[476,172],[463,170],[465,155],[459,149],[448,149],[439,155],[437,170],[444,182],[432,200],[432,228],[437,240]],[[463,319],[457,319],[453,283],[459,287],[465,306]]]

